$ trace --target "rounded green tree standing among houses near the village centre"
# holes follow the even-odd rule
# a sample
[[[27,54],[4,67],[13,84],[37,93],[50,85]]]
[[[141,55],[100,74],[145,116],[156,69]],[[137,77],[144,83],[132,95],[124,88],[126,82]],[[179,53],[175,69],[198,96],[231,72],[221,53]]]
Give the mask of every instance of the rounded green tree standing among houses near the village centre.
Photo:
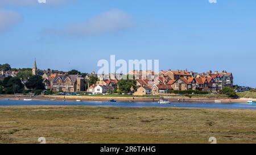
[[[131,91],[131,87],[134,89],[137,86],[137,81],[135,79],[121,79],[118,81],[118,89],[123,93],[129,93]]]

